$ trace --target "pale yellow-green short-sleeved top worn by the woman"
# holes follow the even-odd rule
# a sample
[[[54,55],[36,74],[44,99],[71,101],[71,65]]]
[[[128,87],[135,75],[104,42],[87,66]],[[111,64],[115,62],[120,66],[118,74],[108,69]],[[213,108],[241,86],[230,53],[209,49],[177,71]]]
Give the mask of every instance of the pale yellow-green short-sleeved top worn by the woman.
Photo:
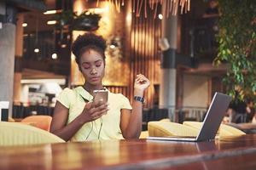
[[[62,105],[69,110],[67,123],[72,122],[84,110],[84,99],[91,101],[93,97],[82,87],[65,88],[57,97]],[[131,110],[131,104],[123,94],[113,94],[108,91],[109,111],[93,122],[87,122],[73,135],[70,141],[85,141],[94,139],[124,139],[120,129],[121,109]],[[101,129],[102,128],[102,129]]]

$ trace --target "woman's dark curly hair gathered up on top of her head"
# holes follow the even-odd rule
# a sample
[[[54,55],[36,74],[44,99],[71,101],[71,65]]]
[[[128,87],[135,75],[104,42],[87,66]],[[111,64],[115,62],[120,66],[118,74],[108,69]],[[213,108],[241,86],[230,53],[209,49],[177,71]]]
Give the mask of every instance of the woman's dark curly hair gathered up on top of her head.
[[[77,39],[73,42],[72,52],[76,57],[76,62],[78,65],[81,55],[90,49],[102,54],[102,58],[105,62],[106,48],[106,40],[102,36],[97,36],[93,33],[85,33],[84,35],[77,37]]]

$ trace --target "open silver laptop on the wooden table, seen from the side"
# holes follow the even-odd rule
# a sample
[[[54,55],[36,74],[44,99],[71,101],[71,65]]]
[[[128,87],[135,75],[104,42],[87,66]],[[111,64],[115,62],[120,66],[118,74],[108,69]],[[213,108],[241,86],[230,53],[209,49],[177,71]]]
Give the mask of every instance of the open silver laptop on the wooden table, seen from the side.
[[[207,115],[204,119],[200,132],[196,137],[180,137],[180,136],[168,136],[168,137],[153,137],[150,136],[149,140],[170,140],[170,141],[210,141],[215,139],[215,135],[218,131],[218,127],[223,120],[225,112],[230,105],[231,97],[226,94],[216,92],[212,98],[212,103],[208,108]]]

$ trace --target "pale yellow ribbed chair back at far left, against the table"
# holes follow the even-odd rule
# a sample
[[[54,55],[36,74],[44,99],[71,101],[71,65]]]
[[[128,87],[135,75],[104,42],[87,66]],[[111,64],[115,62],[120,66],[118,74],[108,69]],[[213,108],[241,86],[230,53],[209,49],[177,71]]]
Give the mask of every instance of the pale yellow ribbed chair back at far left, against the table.
[[[0,146],[51,144],[65,141],[53,133],[18,122],[0,122]]]

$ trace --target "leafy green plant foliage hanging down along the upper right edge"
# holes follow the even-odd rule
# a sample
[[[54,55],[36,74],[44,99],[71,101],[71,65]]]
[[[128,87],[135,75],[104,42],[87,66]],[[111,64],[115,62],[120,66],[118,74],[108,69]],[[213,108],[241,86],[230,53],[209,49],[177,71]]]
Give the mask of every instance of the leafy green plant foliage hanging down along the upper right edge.
[[[256,102],[256,1],[219,0],[216,65],[228,65],[224,84],[235,100]]]

